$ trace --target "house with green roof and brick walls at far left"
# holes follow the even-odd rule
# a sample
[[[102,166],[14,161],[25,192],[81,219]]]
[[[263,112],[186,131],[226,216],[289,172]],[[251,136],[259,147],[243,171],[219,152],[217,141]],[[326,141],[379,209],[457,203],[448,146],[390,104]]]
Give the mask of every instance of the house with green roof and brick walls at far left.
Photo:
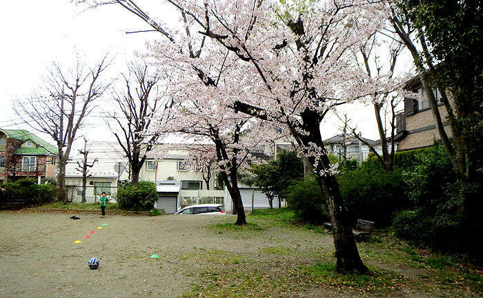
[[[0,181],[55,177],[57,148],[28,130],[0,128]]]

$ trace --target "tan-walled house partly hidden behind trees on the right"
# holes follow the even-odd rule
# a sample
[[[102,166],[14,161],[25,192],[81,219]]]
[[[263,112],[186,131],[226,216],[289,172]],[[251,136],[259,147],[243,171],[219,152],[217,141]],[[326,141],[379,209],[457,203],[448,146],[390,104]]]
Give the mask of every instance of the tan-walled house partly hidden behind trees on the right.
[[[404,111],[398,113],[396,117],[395,139],[399,143],[399,150],[432,146],[435,140],[440,139],[440,134],[435,126],[429,101],[424,95],[420,77],[416,76],[407,81],[405,89],[412,91],[415,96],[404,98]],[[440,91],[435,89],[433,93],[439,102],[438,109],[443,119],[444,130],[451,137],[449,122],[445,120],[448,112],[440,103]]]

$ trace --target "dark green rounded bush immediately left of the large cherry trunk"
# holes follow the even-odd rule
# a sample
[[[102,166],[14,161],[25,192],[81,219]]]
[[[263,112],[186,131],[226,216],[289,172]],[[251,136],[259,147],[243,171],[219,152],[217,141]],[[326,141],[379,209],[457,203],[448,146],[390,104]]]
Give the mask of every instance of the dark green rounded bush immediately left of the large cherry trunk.
[[[328,221],[324,196],[314,175],[289,186],[285,197],[297,218],[315,224]]]

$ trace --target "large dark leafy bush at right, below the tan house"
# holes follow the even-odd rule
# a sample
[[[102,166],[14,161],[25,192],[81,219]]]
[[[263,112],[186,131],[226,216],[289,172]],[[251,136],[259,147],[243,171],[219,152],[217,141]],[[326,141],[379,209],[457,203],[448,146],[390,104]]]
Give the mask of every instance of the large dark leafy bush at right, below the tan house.
[[[411,208],[393,220],[395,235],[432,248],[458,250],[462,242],[461,190],[442,146],[420,150],[402,171]]]

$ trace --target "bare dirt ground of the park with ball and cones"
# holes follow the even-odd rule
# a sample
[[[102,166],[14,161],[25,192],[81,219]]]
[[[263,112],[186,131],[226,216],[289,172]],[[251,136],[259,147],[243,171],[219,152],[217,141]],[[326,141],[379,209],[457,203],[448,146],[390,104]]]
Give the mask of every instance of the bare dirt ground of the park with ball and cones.
[[[99,215],[77,214],[81,217],[79,220],[70,219],[72,215],[0,212],[0,297],[195,297],[193,288],[201,285],[202,289],[210,272],[232,272],[237,266],[248,270],[250,264],[259,266],[253,271],[261,272],[256,282],[262,283],[267,278],[269,284],[282,289],[273,295],[266,292],[257,295],[253,290],[246,290],[251,297],[360,297],[330,287],[307,286],[296,274],[290,275],[292,266],[312,264],[320,258],[333,260],[330,235],[272,226],[262,221],[257,223],[264,226],[260,232],[237,234],[208,228],[235,222],[233,215],[112,215],[101,219]],[[84,238],[86,235],[90,238]],[[77,240],[81,243],[75,244]],[[286,255],[297,257],[293,261],[297,264],[284,261],[284,254],[268,253],[283,249],[288,250]],[[87,262],[92,257],[100,261],[97,270],[88,268]],[[209,266],[204,266],[205,263]],[[397,266],[390,270],[407,275],[430,275],[413,268],[407,268],[406,273]],[[250,279],[246,273],[237,274],[230,276]],[[220,275],[213,273],[210,280],[222,279]],[[280,281],[279,277],[282,277]],[[236,280],[228,282],[233,282],[233,288],[244,286]],[[299,284],[283,290],[284,283],[288,282]],[[243,293],[230,292],[230,295],[245,297]],[[437,291],[404,289],[380,295],[445,296]],[[453,297],[463,296],[471,297],[471,293],[453,294]],[[224,294],[221,289],[213,297],[228,297],[228,292]]]

